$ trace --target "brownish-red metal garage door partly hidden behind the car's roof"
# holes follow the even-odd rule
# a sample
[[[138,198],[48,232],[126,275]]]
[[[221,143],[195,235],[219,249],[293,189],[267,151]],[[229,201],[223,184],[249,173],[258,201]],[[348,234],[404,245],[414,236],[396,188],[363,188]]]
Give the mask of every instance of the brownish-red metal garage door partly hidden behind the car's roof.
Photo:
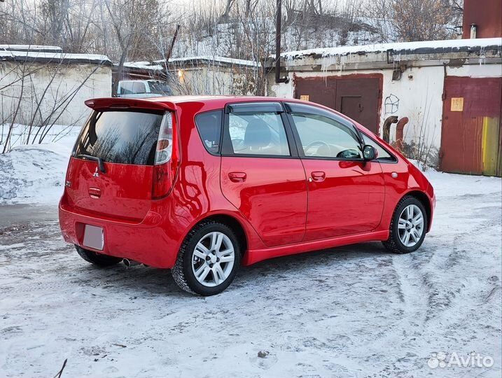
[[[340,111],[377,133],[382,83],[381,74],[295,78],[295,98]]]

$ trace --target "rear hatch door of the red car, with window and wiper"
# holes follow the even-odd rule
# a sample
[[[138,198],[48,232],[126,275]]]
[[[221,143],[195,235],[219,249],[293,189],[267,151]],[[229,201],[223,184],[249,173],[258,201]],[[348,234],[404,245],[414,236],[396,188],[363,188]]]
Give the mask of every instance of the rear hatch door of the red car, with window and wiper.
[[[93,111],[67,172],[70,204],[93,214],[143,219],[151,207],[155,148],[165,114],[160,109]]]

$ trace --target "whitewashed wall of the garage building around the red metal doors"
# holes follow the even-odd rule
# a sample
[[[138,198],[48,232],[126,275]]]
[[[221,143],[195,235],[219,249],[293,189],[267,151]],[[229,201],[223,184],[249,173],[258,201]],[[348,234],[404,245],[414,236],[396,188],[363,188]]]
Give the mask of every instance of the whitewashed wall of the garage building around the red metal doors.
[[[446,71],[445,71],[446,69]],[[382,125],[389,116],[408,117],[410,123],[405,127],[404,141],[414,141],[432,145],[435,153],[441,146],[442,93],[445,72],[447,76],[500,77],[501,64],[469,64],[460,67],[450,66],[412,66],[403,72],[400,80],[392,80],[392,69],[295,71],[288,72],[289,83],[276,84],[274,73],[267,76],[267,95],[293,98],[295,95],[295,77],[323,78],[326,76],[344,76],[353,73],[380,73],[383,75],[382,108],[380,109],[379,134]],[[387,105],[391,101],[397,106]],[[391,127],[391,141],[396,138],[396,124]]]

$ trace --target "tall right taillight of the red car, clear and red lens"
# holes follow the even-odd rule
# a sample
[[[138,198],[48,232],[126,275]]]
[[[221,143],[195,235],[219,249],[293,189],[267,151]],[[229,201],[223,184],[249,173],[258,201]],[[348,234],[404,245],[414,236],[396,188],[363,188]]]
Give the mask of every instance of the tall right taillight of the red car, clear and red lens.
[[[162,118],[155,151],[152,184],[152,198],[154,200],[165,197],[172,188],[178,165],[176,146],[174,113],[168,112]]]

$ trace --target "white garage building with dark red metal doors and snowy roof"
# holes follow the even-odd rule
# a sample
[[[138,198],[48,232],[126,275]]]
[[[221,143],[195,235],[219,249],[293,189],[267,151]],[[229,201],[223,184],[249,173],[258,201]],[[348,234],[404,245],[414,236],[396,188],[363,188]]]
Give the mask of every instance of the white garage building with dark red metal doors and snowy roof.
[[[445,172],[501,176],[501,51],[473,38],[285,52],[282,82],[267,61],[267,95],[340,111]]]

